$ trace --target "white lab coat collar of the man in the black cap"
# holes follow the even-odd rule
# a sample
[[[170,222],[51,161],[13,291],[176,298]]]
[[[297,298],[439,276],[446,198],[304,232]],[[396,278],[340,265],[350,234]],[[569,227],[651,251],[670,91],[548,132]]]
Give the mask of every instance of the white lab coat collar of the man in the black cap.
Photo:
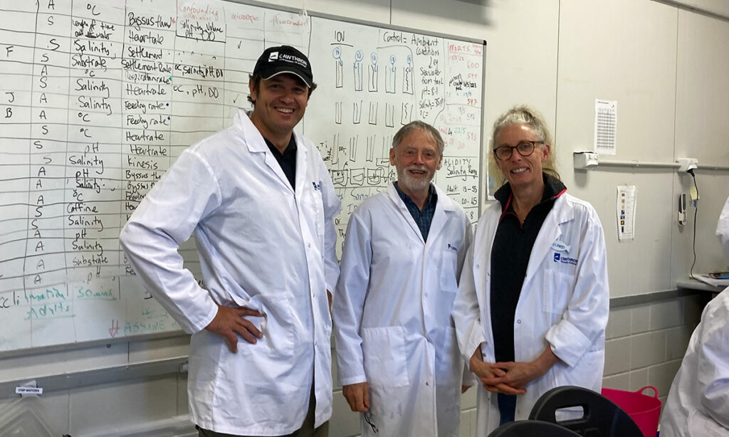
[[[268,149],[268,145],[266,144],[265,140],[263,139],[263,135],[259,132],[258,128],[253,124],[250,118],[251,112],[245,111],[243,109],[238,109],[238,113],[235,114],[234,123],[236,126],[240,127],[241,132],[243,133],[243,140],[246,146],[248,147],[248,150],[251,153],[263,153],[265,154],[265,163],[268,165],[268,168],[273,171],[273,173],[278,176],[279,181],[281,181],[281,184],[284,184],[287,189],[294,192],[294,190],[291,187],[291,184],[289,184],[289,179],[286,178],[286,174],[284,173],[284,170],[281,169],[281,165],[278,164],[278,161],[276,161],[276,157],[273,156],[271,151]],[[303,138],[296,133],[296,131],[293,131],[294,139],[296,141],[296,192],[301,192],[303,189],[303,186],[305,184],[305,176],[306,176],[306,155],[308,153],[308,147],[305,146],[303,142]]]

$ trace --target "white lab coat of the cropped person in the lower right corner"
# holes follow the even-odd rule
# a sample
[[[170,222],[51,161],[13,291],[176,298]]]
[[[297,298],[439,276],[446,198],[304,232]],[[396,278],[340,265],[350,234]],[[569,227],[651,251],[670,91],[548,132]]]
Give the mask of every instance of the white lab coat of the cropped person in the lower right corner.
[[[660,420],[660,437],[729,436],[729,288],[703,309]]]

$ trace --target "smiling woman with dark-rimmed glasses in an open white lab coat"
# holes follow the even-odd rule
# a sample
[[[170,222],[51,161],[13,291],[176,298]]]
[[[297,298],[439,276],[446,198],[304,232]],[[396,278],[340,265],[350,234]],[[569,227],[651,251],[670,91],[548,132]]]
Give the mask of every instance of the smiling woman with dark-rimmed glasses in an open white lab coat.
[[[600,220],[566,193],[542,116],[515,106],[491,143],[504,184],[478,222],[453,304],[461,353],[483,383],[479,436],[528,418],[550,388],[599,392],[609,310]]]

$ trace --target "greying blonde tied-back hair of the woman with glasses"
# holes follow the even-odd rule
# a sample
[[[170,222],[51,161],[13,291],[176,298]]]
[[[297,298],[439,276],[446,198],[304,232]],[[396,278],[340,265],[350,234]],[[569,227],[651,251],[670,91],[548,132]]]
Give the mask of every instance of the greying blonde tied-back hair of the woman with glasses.
[[[539,137],[539,141],[542,141],[545,144],[549,144],[550,146],[550,153],[547,155],[547,160],[542,165],[542,171],[547,173],[550,176],[553,176],[555,178],[559,179],[559,173],[557,172],[557,163],[555,160],[556,154],[555,154],[555,147],[554,142],[552,140],[552,135],[550,134],[549,127],[547,127],[547,122],[545,122],[544,117],[542,117],[542,114],[539,113],[534,108],[531,108],[531,106],[528,105],[517,105],[509,109],[508,111],[504,112],[504,114],[501,114],[499,118],[496,119],[496,122],[494,122],[494,133],[491,135],[491,149],[496,149],[499,145],[496,143],[496,138],[499,137],[499,133],[504,127],[507,127],[508,125],[517,125],[517,124],[523,124],[531,127],[531,130],[534,130],[534,133],[537,134]],[[493,175],[499,175],[499,184],[504,182],[503,175],[500,171],[493,171],[496,170],[496,162],[494,159],[493,154],[491,155],[491,162],[494,164],[491,166],[492,171],[491,174]]]

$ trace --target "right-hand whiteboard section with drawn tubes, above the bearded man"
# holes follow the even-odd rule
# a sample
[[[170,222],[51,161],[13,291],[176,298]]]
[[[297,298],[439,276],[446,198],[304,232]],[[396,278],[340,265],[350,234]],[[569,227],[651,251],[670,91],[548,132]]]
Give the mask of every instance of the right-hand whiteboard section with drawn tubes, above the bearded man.
[[[304,132],[319,146],[342,200],[335,220],[340,239],[357,205],[397,179],[389,162],[392,137],[414,120],[443,135],[435,183],[475,223],[483,44],[321,17],[312,18],[310,44],[314,79],[326,95],[315,91]]]

